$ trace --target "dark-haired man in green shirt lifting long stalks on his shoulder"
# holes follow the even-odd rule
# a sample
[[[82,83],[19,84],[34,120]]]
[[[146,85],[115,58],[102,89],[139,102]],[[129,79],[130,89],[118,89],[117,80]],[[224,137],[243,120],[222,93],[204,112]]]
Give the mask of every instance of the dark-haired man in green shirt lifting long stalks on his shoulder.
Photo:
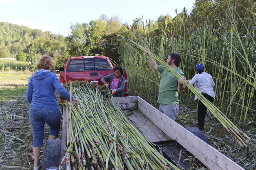
[[[176,116],[179,113],[179,99],[178,90],[183,92],[185,90],[184,85],[184,73],[180,70],[179,65],[181,57],[177,53],[170,53],[166,63],[169,64],[172,69],[177,71],[183,78],[178,79],[174,76],[166,67],[157,65],[156,61],[148,54],[149,50],[143,50],[144,54],[148,56],[150,66],[156,71],[162,73],[162,78],[159,85],[158,103],[159,111],[170,117],[175,121]]]

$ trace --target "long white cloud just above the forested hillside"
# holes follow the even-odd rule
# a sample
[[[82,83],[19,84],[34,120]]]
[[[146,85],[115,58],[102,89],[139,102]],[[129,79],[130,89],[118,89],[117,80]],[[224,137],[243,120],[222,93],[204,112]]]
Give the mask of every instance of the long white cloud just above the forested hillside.
[[[0,1],[2,1],[2,0],[0,0]],[[32,29],[40,29],[42,31],[55,32],[54,27],[49,26],[47,24],[38,23],[36,21],[12,20],[12,21],[10,21],[10,23],[17,24],[20,26],[27,26]]]

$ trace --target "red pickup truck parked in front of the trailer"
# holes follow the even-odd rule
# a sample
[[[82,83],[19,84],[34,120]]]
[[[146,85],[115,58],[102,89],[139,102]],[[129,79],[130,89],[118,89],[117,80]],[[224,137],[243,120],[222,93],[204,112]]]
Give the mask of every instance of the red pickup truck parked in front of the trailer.
[[[123,69],[123,77],[125,79],[125,86],[123,96],[128,96],[127,91],[127,76]],[[88,82],[98,81],[99,85],[103,85],[101,78],[109,74],[114,74],[114,67],[106,56],[81,56],[71,57],[68,59],[65,68],[60,68],[60,83],[66,83],[69,80]]]

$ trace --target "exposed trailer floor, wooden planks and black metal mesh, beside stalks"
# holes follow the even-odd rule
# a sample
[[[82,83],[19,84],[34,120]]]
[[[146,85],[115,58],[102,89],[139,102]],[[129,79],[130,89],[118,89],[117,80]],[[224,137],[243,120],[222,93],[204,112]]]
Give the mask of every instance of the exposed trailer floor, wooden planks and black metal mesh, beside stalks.
[[[123,111],[124,113],[127,112],[127,110]],[[142,136],[156,144],[156,149],[174,165],[178,166],[180,169],[183,168],[186,170],[206,167],[178,142],[168,137],[138,109],[133,110],[132,113],[132,115],[126,116],[128,122],[130,122]]]

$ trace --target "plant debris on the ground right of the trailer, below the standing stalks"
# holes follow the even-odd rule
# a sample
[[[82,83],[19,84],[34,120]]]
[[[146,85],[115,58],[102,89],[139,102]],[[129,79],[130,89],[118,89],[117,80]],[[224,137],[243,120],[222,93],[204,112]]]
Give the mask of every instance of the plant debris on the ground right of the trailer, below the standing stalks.
[[[193,125],[193,120],[197,121],[197,111],[180,106],[179,114],[175,121],[183,127],[189,127],[195,126]],[[245,134],[252,139],[248,147],[245,148],[234,140],[210,112],[207,112],[203,133],[213,148],[236,162],[239,166],[244,169],[256,169],[256,128],[252,126],[252,129],[245,131]]]

